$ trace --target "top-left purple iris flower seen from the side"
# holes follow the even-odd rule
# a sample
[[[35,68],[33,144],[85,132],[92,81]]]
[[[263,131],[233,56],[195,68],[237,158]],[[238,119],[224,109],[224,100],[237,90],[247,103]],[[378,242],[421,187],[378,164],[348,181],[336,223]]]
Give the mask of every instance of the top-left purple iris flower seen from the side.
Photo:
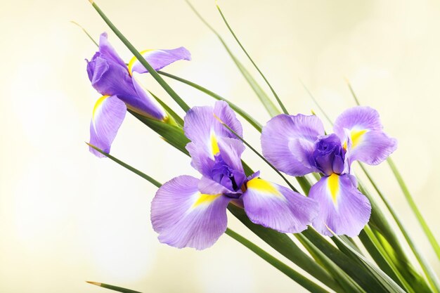
[[[172,50],[147,50],[141,55],[160,70],[176,60],[190,60],[190,53],[180,47]],[[110,146],[124,120],[127,108],[141,115],[158,120],[167,120],[167,115],[147,96],[132,76],[133,72],[145,73],[145,68],[136,58],[129,66],[117,55],[104,32],[99,39],[99,50],[87,60],[87,74],[91,85],[103,95],[96,101],[90,123],[90,143],[104,152],[110,152]],[[90,148],[98,157],[100,152]]]

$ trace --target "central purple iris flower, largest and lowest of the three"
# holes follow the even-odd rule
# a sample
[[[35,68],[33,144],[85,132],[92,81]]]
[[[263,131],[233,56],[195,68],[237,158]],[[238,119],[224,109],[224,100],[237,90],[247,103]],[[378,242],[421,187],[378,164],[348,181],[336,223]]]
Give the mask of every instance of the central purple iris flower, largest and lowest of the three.
[[[216,117],[242,136],[240,122],[223,101],[188,111],[183,130],[191,142],[186,149],[202,178],[179,176],[157,190],[151,221],[160,242],[210,247],[226,230],[230,202],[262,226],[283,233],[305,230],[317,215],[316,202],[259,178],[259,172],[247,177],[240,159],[245,146]]]

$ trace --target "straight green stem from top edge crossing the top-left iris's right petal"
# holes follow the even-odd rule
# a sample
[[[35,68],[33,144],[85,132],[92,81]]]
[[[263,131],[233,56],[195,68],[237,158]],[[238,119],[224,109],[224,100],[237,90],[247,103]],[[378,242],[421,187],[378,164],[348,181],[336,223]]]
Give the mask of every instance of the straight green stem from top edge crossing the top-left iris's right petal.
[[[101,11],[101,8],[98,7],[96,2],[92,1],[91,5],[93,6],[93,8],[95,8],[98,14],[101,15],[101,18],[103,18],[105,23],[107,23],[108,27],[110,27],[110,29],[117,35],[117,37],[122,41],[122,43],[124,43],[124,45],[127,46],[129,51],[131,51],[131,53],[138,59],[138,61],[143,65],[143,67],[145,67],[145,69],[148,70],[148,72],[156,80],[156,82],[160,84],[160,86],[162,86],[162,88],[165,91],[167,91],[169,96],[171,96],[173,100],[175,100],[176,103],[179,104],[179,106],[183,109],[183,111],[185,112],[188,111],[190,109],[189,106],[181,99],[181,97],[174,91],[174,89],[172,89],[171,86],[169,86],[167,82],[165,82],[164,79],[162,79],[162,77],[159,74],[157,74],[156,70],[154,70],[154,68],[151,67],[151,65],[147,62],[147,60],[145,60],[145,58],[143,58],[143,56],[139,53],[139,51],[136,50],[136,48],[134,48],[134,46],[129,42],[129,40],[126,37],[124,37],[124,34],[122,34],[117,29],[117,27],[113,25],[113,23],[108,19],[105,13]]]

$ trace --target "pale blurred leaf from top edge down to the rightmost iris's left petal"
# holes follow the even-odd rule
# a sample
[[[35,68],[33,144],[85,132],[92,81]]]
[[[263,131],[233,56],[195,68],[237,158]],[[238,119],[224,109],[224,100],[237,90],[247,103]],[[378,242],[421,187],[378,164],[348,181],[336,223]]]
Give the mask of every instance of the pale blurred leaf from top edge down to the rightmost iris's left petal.
[[[200,18],[200,20],[202,20],[202,22],[205,23],[205,25],[209,28],[209,30],[211,30],[216,35],[216,37],[219,38],[221,44],[226,49],[226,51],[228,52],[229,56],[231,57],[231,59],[235,63],[235,65],[238,67],[238,70],[240,70],[242,76],[245,77],[247,83],[250,85],[252,90],[254,90],[254,92],[257,94],[257,97],[259,98],[261,103],[263,103],[264,108],[266,108],[266,110],[269,113],[269,115],[271,115],[271,117],[273,117],[273,116],[276,116],[278,114],[281,114],[280,110],[278,110],[278,108],[276,108],[276,105],[273,104],[272,100],[267,96],[267,94],[263,91],[263,89],[261,89],[261,87],[259,86],[257,81],[254,79],[254,77],[252,77],[252,75],[240,63],[238,58],[236,58],[233,55],[231,49],[228,47],[228,45],[226,45],[226,42],[220,36],[220,34],[218,32],[216,32],[216,30],[214,30],[214,28],[211,25],[209,25],[209,23],[204,18],[202,18],[202,15],[200,15],[200,13],[198,13],[198,11],[195,10],[194,6],[192,6],[188,0],[186,0],[186,3],[194,11],[195,15],[197,15],[198,18]]]

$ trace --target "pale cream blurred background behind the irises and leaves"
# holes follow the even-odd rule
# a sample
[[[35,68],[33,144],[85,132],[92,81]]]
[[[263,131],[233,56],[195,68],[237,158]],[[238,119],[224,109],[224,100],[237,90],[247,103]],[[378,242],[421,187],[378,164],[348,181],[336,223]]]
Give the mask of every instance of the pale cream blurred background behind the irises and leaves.
[[[167,72],[232,100],[262,124],[268,120],[219,40],[183,0],[97,3],[139,50],[188,48],[193,60]],[[214,1],[193,4],[252,70]],[[301,80],[334,119],[354,105],[345,78],[361,103],[379,110],[385,130],[399,140],[394,161],[439,239],[439,2],[221,0],[219,5],[290,112],[313,109],[321,115]],[[302,292],[227,235],[202,252],[157,241],[149,215],[153,185],[94,157],[84,143],[100,96],[84,59],[96,46],[70,20],[95,39],[109,32],[120,56],[131,58],[89,1],[0,2],[0,292],[105,292],[86,280],[141,292]],[[142,81],[178,110],[153,79]],[[190,105],[213,103],[188,86],[169,83]],[[257,131],[247,124],[245,137],[259,148]],[[188,157],[130,115],[112,154],[161,182],[197,174]],[[280,182],[250,151],[245,159]],[[369,169],[440,273],[387,164]],[[229,220],[231,228],[261,244],[233,216]]]

